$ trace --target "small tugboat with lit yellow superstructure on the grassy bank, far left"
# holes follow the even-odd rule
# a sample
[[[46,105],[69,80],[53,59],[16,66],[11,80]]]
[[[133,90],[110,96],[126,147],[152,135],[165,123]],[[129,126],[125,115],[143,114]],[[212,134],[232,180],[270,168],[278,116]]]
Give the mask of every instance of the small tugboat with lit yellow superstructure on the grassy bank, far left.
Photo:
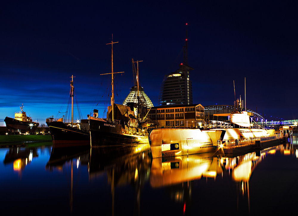
[[[10,133],[21,133],[22,131],[34,132],[39,126],[39,123],[32,121],[32,118],[26,115],[26,112],[23,111],[23,104],[20,108],[21,111],[15,112],[15,118],[6,117],[4,119],[6,127],[10,130]]]

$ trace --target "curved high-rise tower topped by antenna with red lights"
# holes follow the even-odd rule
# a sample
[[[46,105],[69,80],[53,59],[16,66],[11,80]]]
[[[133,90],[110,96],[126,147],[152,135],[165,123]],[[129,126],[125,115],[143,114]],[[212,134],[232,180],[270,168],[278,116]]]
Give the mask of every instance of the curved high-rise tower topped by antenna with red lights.
[[[187,24],[186,24],[187,25]],[[183,63],[179,69],[164,76],[159,93],[159,105],[193,104],[193,89],[189,79],[189,72],[193,68],[188,66],[187,56],[187,29],[183,47]]]

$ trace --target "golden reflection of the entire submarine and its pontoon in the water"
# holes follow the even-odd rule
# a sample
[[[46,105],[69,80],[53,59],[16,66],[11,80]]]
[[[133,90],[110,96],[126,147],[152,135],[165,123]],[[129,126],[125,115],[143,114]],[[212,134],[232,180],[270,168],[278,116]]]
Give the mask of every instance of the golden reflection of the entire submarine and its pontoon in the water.
[[[243,208],[247,209],[250,213],[249,181],[255,168],[269,155],[295,155],[297,158],[298,143],[296,142],[297,139],[294,140],[295,142],[283,143],[236,157],[205,153],[156,158],[152,161],[150,185],[154,189],[166,188],[172,200],[183,204],[182,208],[185,213],[185,209],[192,203],[194,182],[197,184],[206,180],[207,184],[207,181],[210,182],[210,179],[213,179],[212,185],[216,182],[222,182],[228,177],[235,184],[237,212],[241,206],[242,210]]]

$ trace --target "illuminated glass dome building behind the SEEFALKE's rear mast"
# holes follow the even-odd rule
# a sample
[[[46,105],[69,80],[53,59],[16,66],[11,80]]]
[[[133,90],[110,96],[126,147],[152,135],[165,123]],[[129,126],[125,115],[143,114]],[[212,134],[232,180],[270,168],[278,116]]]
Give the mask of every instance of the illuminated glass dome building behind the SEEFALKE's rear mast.
[[[140,97],[140,104],[144,104],[145,107],[153,107],[153,103],[151,102],[150,98],[144,92],[144,88],[139,86],[139,97]],[[128,96],[123,101],[122,105],[126,105],[129,102],[138,103],[138,87],[137,85],[131,87],[131,91]]]

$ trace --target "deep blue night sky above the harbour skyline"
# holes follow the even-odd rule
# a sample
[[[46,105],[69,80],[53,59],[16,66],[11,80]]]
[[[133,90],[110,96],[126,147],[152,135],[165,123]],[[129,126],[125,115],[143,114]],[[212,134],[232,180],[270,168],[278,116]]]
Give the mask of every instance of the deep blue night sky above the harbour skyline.
[[[297,1],[7,1],[0,3],[0,126],[24,103],[33,120],[62,117],[70,76],[83,118],[103,116],[140,84],[158,106],[164,75],[179,69],[188,31],[193,103],[233,105],[266,119],[298,119]],[[185,24],[188,24],[187,26]],[[107,102],[108,101],[108,102]],[[97,105],[98,104],[98,105]],[[64,110],[63,110],[64,109]]]

